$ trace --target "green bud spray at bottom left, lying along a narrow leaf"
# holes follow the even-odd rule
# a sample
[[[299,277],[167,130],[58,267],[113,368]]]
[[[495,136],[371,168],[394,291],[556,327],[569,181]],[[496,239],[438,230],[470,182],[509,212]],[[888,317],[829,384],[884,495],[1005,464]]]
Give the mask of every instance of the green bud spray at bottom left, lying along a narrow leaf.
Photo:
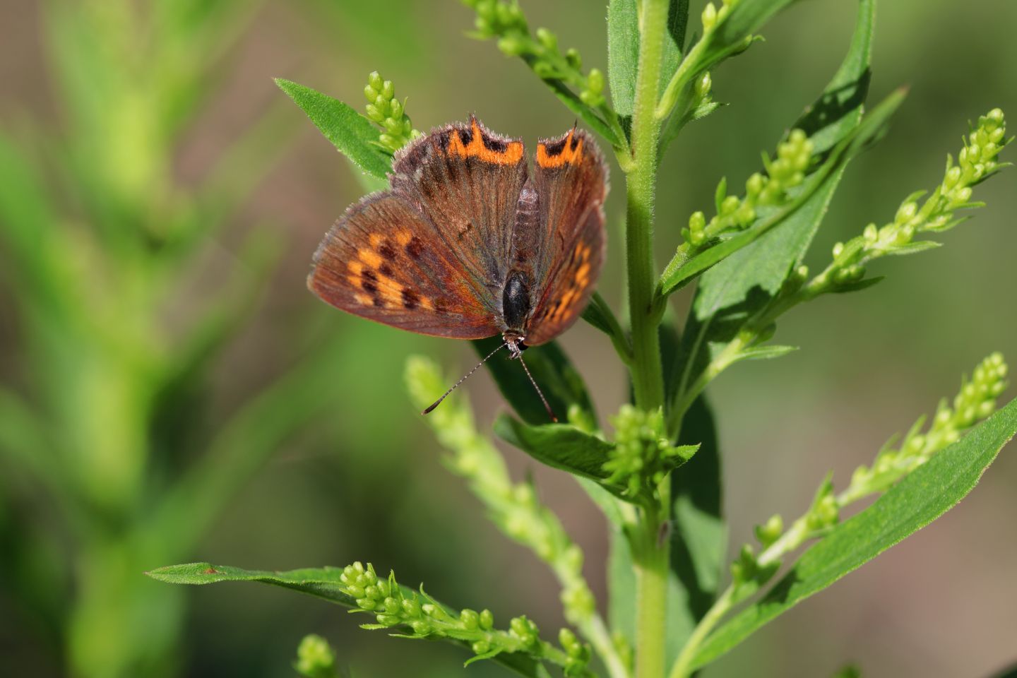
[[[401,626],[408,637],[447,637],[460,640],[474,653],[471,660],[490,659],[501,653],[525,653],[572,671],[567,675],[587,675],[583,654],[571,642],[558,650],[540,639],[540,629],[526,616],[510,621],[508,630],[494,628],[494,615],[490,610],[477,612],[469,608],[458,614],[448,610],[424,592],[404,592],[396,581],[396,573],[387,579],[380,578],[374,566],[355,562],[343,568],[340,591],[356,600],[357,609],[374,615],[376,623],[362,624],[361,628],[379,629]],[[575,636],[571,636],[575,639]]]

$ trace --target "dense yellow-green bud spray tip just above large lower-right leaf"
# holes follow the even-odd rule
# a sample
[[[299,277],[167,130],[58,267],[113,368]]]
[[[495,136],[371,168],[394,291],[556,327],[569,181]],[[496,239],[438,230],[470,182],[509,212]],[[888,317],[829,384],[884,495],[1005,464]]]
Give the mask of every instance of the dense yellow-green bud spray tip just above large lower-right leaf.
[[[985,358],[961,383],[953,399],[940,402],[929,429],[922,433],[925,418],[919,418],[896,448],[886,445],[872,467],[858,467],[850,486],[837,498],[845,505],[866,495],[883,492],[905,475],[924,464],[947,445],[960,439],[964,431],[996,411],[997,398],[1007,387],[1007,364],[1003,355]]]

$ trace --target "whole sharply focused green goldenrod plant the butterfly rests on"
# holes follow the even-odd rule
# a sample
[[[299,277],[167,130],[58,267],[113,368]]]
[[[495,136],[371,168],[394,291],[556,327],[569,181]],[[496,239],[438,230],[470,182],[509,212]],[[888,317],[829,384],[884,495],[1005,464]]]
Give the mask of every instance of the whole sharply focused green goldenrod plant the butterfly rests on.
[[[534,485],[510,477],[462,389],[426,423],[448,451],[450,470],[467,482],[494,526],[554,573],[566,627],[538,628],[526,616],[505,624],[483,601],[473,609],[453,608],[440,602],[445,592],[404,587],[394,568],[376,561],[279,572],[201,562],[149,575],[301,591],[351,608],[368,619],[364,628],[446,640],[467,664],[486,660],[532,678],[692,676],[954,506],[1017,431],[1017,402],[999,407],[1007,366],[993,353],[928,423],[919,419],[848,482],[828,476],[800,516],[761,519],[754,543],[726,553],[714,418],[727,413],[711,411],[708,387],[737,363],[791,352],[772,342],[784,313],[832,293],[868,290],[881,280],[869,270],[877,259],[936,247],[930,236],[957,226],[963,210],[981,206],[974,200],[978,184],[1006,165],[1001,158],[1011,138],[1005,116],[993,109],[976,117],[956,159],[948,157],[938,186],[907,195],[884,226],[859,225],[860,235],[838,243],[830,264],[814,274],[804,257],[848,165],[886,134],[905,105],[904,88],[866,103],[875,0],[858,0],[842,65],[800,117],[788,121],[775,152],[763,153],[744,190],[729,193],[729,183],[720,180],[713,206],[691,217],[657,209],[661,161],[680,133],[692,133],[698,120],[719,110],[713,99],[717,66],[752,53],[768,20],[793,0],[724,0],[708,3],[698,17],[684,0],[611,0],[606,76],[585,66],[575,49],[562,49],[551,30],[531,29],[519,3],[464,4],[474,15],[471,36],[521,59],[580,125],[613,149],[621,171],[615,186],[625,201],[625,313],[619,317],[595,296],[584,318],[606,334],[626,368],[631,402],[601,426],[582,366],[556,344],[536,347],[527,352],[527,364],[551,409],[565,414],[564,421],[549,423],[518,366],[489,363],[511,410],[498,417],[494,434],[536,463],[575,476],[606,516],[609,600],[595,600],[582,549]],[[729,77],[731,70],[723,72]],[[416,134],[406,103],[377,73],[368,76],[363,114],[309,87],[279,84],[375,185],[391,170],[393,151]],[[730,182],[735,185],[740,181]],[[661,269],[655,230],[683,237]],[[689,303],[673,304],[679,294]],[[675,321],[677,308],[687,308],[683,322]],[[488,355],[498,342],[479,341],[477,351]],[[410,360],[411,400],[427,407],[445,390],[448,376],[432,360]],[[323,650],[315,652],[327,660]],[[324,660],[321,670],[330,671]],[[849,667],[842,675],[854,673]]]

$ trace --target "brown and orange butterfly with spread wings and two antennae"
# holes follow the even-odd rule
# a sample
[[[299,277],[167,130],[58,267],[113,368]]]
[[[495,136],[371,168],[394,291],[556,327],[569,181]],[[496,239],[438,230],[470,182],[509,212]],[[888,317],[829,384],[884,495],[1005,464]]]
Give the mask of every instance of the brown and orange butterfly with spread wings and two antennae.
[[[339,309],[421,334],[500,333],[498,350],[522,362],[589,302],[604,260],[607,194],[603,156],[576,127],[538,141],[532,176],[527,166],[522,140],[475,116],[418,137],[396,153],[390,188],[352,205],[325,235],[308,288]]]

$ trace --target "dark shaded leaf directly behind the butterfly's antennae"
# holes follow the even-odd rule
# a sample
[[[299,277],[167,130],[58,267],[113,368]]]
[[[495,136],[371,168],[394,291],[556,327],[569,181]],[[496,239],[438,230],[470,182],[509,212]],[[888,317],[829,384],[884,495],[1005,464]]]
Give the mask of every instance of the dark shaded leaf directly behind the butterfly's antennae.
[[[484,357],[498,348],[502,340],[492,336],[477,340],[472,344],[477,354]],[[527,378],[523,366],[519,361],[508,360],[507,356],[507,351],[504,351],[503,354],[495,354],[487,361],[487,367],[494,377],[498,390],[527,424],[549,423],[547,411],[544,410],[540,396]],[[530,373],[533,374],[534,380],[547,397],[555,415],[564,417],[571,408],[579,408],[579,414],[596,428],[597,415],[583,377],[557,343],[551,342],[527,349],[523,360],[526,361],[526,366],[530,368]]]

